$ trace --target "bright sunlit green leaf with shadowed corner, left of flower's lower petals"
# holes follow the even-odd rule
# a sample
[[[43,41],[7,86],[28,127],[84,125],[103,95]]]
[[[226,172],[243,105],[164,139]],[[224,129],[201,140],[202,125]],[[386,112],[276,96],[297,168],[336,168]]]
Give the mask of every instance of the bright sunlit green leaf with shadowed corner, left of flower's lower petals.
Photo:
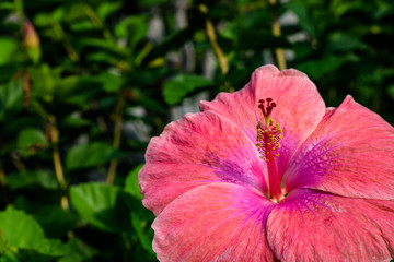
[[[71,187],[72,206],[83,219],[113,233],[128,230],[127,206],[119,188],[91,182]]]

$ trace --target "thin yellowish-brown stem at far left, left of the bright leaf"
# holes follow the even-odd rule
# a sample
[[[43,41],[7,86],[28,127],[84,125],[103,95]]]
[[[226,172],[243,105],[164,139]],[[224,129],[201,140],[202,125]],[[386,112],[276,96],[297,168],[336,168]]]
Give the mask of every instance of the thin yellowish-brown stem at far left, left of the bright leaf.
[[[63,170],[62,170],[61,158],[60,158],[59,146],[58,146],[59,131],[56,126],[55,116],[50,115],[48,117],[48,120],[50,123],[50,139],[53,142],[53,148],[54,148],[53,157],[54,157],[55,174],[56,174],[56,178],[60,184],[61,190],[66,191],[67,183],[66,183],[66,179],[65,179],[65,175],[63,175]],[[61,207],[63,207],[65,210],[69,209],[69,201],[66,195],[61,196],[60,204],[61,204]]]

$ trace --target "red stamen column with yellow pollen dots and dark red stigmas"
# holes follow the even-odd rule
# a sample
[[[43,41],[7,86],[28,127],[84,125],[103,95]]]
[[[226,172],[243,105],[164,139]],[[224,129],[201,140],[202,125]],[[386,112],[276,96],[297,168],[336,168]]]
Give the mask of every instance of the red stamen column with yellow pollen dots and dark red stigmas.
[[[278,123],[270,118],[276,104],[271,98],[258,100],[258,108],[262,110],[265,123],[257,123],[257,151],[260,159],[267,163],[268,168],[268,198],[279,202],[282,198],[280,179],[277,171],[276,158],[279,156],[280,141],[282,139],[282,130]]]

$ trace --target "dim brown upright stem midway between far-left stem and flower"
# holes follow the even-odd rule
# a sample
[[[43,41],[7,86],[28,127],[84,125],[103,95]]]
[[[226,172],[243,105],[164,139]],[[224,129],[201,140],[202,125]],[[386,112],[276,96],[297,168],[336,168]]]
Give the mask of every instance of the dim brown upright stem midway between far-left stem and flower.
[[[119,148],[119,146],[120,146],[121,124],[123,124],[121,117],[123,117],[124,105],[125,105],[125,92],[121,92],[118,96],[118,99],[117,99],[117,103],[115,106],[115,111],[113,115],[113,120],[115,122],[113,147],[115,150]],[[111,160],[108,175],[107,175],[107,183],[108,184],[114,184],[117,165],[118,165],[117,159]]]

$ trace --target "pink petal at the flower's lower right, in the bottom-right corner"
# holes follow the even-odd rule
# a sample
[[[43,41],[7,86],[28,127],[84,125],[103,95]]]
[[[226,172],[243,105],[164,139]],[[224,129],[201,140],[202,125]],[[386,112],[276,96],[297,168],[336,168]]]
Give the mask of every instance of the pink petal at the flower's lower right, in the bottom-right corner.
[[[391,201],[347,199],[294,190],[267,221],[267,239],[280,261],[390,261]]]

